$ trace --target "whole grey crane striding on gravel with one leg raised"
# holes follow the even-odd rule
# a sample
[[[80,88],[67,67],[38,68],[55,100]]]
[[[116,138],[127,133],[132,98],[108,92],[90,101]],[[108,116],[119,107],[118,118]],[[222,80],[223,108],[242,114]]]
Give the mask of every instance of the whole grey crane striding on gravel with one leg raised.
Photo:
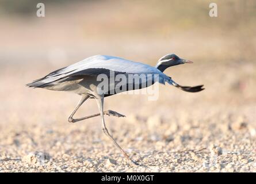
[[[105,135],[113,141],[113,143],[119,148],[121,152],[123,152],[124,156],[129,161],[131,161],[131,163],[137,164],[129,158],[127,153],[123,150],[123,148],[120,147],[119,144],[117,144],[117,142],[113,139],[112,135],[110,135],[108,129],[106,128],[104,114],[116,117],[124,117],[124,115],[114,112],[113,110],[104,111],[104,98],[108,97],[109,95],[120,93],[122,91],[142,89],[144,87],[153,85],[155,82],[159,82],[163,85],[165,85],[165,83],[167,82],[170,85],[173,85],[174,87],[177,87],[178,89],[187,92],[198,92],[204,90],[204,88],[202,88],[202,85],[194,87],[178,85],[178,83],[174,82],[173,79],[171,79],[169,76],[163,74],[163,71],[165,71],[166,68],[184,63],[193,62],[190,60],[181,59],[175,54],[168,54],[161,57],[158,60],[156,66],[152,67],[148,64],[133,62],[131,60],[123,59],[120,57],[96,55],[88,57],[81,62],[53,71],[48,75],[44,76],[43,78],[37,79],[32,83],[28,83],[26,86],[55,91],[69,91],[81,95],[81,99],[78,102],[77,107],[71,113],[70,117],[68,117],[68,121],[77,122],[91,117],[100,116],[102,132],[104,132]],[[143,74],[146,75],[146,82],[143,82],[143,80],[141,79],[139,80],[139,82],[135,82],[135,80],[127,80],[124,81],[124,85],[120,87],[119,85],[117,85],[117,81],[111,82],[111,80],[109,80],[108,88],[100,92],[98,90],[98,85],[100,85],[102,81],[99,81],[97,79],[97,76],[104,74],[108,79],[110,79],[111,72],[114,72],[114,76],[117,76],[119,74],[122,74],[124,76]],[[157,78],[151,78],[150,81],[148,76],[152,75],[157,76]],[[110,86],[112,86],[112,93],[110,93]],[[133,87],[132,89],[131,86]],[[78,108],[88,98],[94,98],[96,100],[100,113],[82,118],[73,118]]]

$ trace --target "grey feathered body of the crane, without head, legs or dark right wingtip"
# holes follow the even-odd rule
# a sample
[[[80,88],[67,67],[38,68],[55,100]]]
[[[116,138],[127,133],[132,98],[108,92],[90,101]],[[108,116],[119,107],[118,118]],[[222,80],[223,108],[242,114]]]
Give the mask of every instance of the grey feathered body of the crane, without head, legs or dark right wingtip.
[[[109,76],[110,71],[114,72],[114,75],[144,74],[147,77],[148,74],[151,74],[152,78],[157,75],[158,80],[152,81],[152,83],[148,82],[146,87],[154,84],[155,82],[165,84],[167,81],[172,84],[170,77],[163,74],[155,67],[143,63],[132,62],[120,57],[96,55],[88,57],[87,59],[68,67],[51,72],[44,76],[44,78],[37,79],[36,81],[29,83],[27,86],[86,94],[89,93],[90,90],[95,90],[95,87],[101,82],[97,81],[97,76],[99,74]],[[110,85],[116,85],[117,83],[118,82],[115,82]],[[129,84],[127,81],[127,85],[134,85],[135,89],[141,89],[143,87],[141,83],[135,84],[134,81],[133,84]],[[94,89],[90,89],[91,87]],[[106,94],[106,96],[108,96],[108,94]]]

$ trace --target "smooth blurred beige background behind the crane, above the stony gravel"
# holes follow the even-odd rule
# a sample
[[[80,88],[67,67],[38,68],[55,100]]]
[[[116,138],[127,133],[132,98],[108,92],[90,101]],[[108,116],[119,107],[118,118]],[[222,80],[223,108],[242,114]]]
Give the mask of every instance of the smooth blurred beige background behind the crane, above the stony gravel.
[[[256,1],[215,0],[217,17],[209,17],[212,1],[208,0],[40,2],[45,5],[45,17],[36,16],[37,1],[0,0],[0,127],[10,143],[15,133],[29,132],[31,126],[41,126],[31,129],[31,136],[36,136],[34,130],[43,133],[45,127],[70,128],[67,117],[77,95],[28,89],[25,84],[97,54],[154,66],[163,55],[175,53],[194,64],[170,68],[166,74],[180,85],[205,85],[197,94],[161,86],[158,101],[147,101],[146,95],[106,98],[105,109],[118,109],[128,120],[147,121],[157,114],[172,123],[182,124],[181,117],[207,117],[218,124],[225,117],[242,118],[255,126]],[[97,106],[90,100],[77,116],[94,112]],[[99,121],[89,120],[90,126],[97,122],[100,136]],[[116,119],[109,121],[119,124]],[[88,124],[72,126],[81,129]],[[6,145],[7,134],[1,136],[0,143]]]

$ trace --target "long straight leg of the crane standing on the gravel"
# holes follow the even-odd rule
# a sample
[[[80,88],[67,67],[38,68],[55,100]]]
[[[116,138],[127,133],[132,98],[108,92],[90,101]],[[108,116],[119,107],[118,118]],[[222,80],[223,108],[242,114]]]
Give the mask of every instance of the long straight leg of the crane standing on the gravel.
[[[119,148],[119,150],[123,153],[123,155],[125,156],[125,158],[127,158],[129,160],[130,163],[132,163],[133,165],[138,165],[136,162],[134,162],[132,159],[129,158],[129,156],[127,155],[127,153],[123,150],[123,148],[120,147],[119,144],[117,144],[117,142],[114,140],[114,138],[110,135],[110,133],[108,132],[108,129],[106,128],[105,125],[105,120],[104,120],[104,111],[103,111],[103,105],[104,105],[104,96],[100,96],[98,98],[95,98],[97,101],[97,105],[98,105],[98,109],[100,110],[100,115],[101,115],[101,128],[102,128],[102,132],[105,133],[106,136],[108,136],[112,142],[114,143],[114,145],[116,145],[117,148]]]

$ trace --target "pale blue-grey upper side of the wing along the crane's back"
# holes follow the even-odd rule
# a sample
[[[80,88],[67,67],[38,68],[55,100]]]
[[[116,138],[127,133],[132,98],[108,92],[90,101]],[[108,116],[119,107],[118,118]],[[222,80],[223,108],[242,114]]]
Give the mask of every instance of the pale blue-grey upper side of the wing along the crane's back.
[[[83,76],[97,76],[105,74],[109,76],[113,71],[117,74],[159,74],[165,78],[165,74],[147,64],[132,62],[120,57],[113,56],[92,56],[81,62],[72,64],[68,67],[53,71],[41,79],[37,79],[26,86],[45,87],[56,81],[64,81],[82,78]]]

